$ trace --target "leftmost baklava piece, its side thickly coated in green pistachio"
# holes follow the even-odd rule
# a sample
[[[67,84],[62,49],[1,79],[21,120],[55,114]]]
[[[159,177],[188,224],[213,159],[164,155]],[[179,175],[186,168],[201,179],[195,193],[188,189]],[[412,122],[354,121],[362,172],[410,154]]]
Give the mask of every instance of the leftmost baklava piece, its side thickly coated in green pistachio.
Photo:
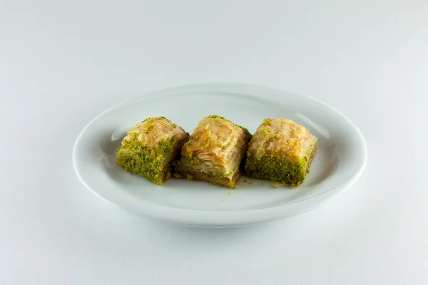
[[[161,185],[172,173],[174,160],[188,141],[183,128],[166,118],[148,118],[129,130],[116,165]]]

